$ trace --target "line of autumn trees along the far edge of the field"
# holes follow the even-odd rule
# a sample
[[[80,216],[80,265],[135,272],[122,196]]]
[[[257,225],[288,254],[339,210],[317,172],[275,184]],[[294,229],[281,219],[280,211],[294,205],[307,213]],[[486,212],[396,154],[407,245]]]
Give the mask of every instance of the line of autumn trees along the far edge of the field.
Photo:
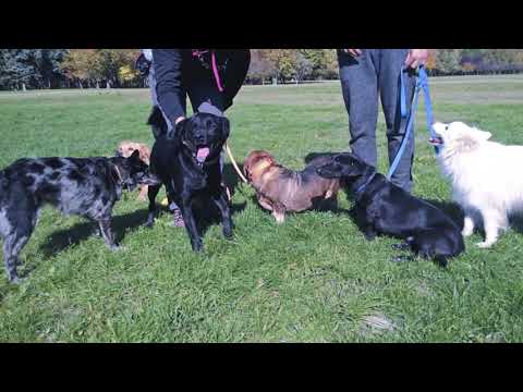
[[[0,89],[144,87],[138,49],[0,49]],[[335,49],[252,49],[246,84],[338,78]],[[433,76],[523,71],[523,49],[430,49]]]

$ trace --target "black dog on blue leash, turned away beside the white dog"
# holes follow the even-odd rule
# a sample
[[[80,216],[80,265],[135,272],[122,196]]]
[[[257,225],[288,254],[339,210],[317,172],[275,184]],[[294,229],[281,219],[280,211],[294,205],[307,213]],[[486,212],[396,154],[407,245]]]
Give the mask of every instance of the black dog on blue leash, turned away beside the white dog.
[[[443,211],[387,181],[354,155],[339,154],[318,168],[317,173],[326,179],[341,179],[344,186],[351,187],[356,220],[367,240],[374,240],[378,233],[404,238],[405,243],[397,247],[410,247],[443,267],[449,258],[464,250],[460,228]]]

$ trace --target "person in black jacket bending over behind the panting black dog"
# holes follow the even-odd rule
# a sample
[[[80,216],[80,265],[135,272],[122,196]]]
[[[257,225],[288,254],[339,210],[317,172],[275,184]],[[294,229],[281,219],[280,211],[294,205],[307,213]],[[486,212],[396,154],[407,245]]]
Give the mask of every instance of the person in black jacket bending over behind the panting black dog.
[[[248,49],[143,49],[137,69],[147,74],[153,105],[167,123],[167,130],[153,125],[155,138],[185,119],[187,96],[193,112],[223,115],[250,64]],[[170,207],[175,224],[183,225],[178,206]]]

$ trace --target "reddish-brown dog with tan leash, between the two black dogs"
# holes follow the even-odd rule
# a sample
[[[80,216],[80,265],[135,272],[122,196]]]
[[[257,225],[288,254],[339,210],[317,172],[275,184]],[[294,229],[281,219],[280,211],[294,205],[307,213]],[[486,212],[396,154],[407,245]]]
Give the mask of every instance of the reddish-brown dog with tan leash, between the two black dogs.
[[[316,168],[330,161],[330,157],[314,159],[304,170],[292,171],[278,164],[267,151],[252,151],[243,163],[243,171],[256,189],[258,203],[272,211],[278,223],[283,223],[285,212],[300,212],[318,207],[325,199],[336,199],[339,180],[327,180],[316,173]]]

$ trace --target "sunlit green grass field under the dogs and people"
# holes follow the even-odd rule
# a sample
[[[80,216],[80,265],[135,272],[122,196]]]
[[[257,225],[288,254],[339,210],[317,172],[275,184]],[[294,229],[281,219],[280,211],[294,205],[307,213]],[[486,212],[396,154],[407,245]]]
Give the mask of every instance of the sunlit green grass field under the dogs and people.
[[[435,115],[523,144],[523,77],[431,79]],[[0,167],[21,157],[111,155],[122,139],[151,144],[147,90],[0,94]],[[415,189],[459,218],[426,143],[423,100],[416,122]],[[239,161],[267,149],[300,169],[312,152],[348,149],[338,83],[246,86],[228,113]],[[386,171],[385,124],[378,124]],[[230,182],[238,182],[230,166]],[[219,225],[195,255],[163,213],[142,224],[147,205],[125,194],[114,209],[124,250],[111,253],[90,226],[46,208],[20,268],[20,286],[0,279],[2,342],[522,342],[523,234],[489,250],[466,241],[448,269],[394,264],[390,245],[365,241],[345,213],[304,212],[277,225],[236,184],[235,232]]]

